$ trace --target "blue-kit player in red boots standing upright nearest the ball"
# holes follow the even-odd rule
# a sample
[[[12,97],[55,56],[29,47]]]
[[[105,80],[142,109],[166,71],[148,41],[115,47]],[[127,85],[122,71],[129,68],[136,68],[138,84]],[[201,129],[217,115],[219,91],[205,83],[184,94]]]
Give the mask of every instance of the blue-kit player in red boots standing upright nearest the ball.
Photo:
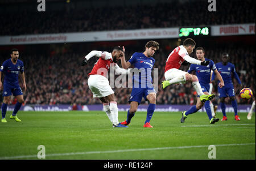
[[[235,99],[236,93],[234,90],[233,82],[232,82],[232,73],[234,75],[234,78],[236,78],[238,84],[240,84],[240,89],[242,88],[241,80],[239,79],[239,76],[237,75],[235,66],[228,62],[229,61],[229,55],[228,53],[223,53],[221,55],[222,62],[216,63],[216,68],[218,72],[220,72],[225,86],[224,87],[218,87],[218,95],[220,97],[220,107],[223,114],[223,118],[221,121],[227,121],[228,118],[226,117],[226,105],[225,105],[225,98],[229,97],[230,101],[232,103],[232,106],[234,108],[234,115],[236,121],[240,121],[240,118],[237,114],[237,101]],[[214,80],[215,74],[212,75],[212,80]]]

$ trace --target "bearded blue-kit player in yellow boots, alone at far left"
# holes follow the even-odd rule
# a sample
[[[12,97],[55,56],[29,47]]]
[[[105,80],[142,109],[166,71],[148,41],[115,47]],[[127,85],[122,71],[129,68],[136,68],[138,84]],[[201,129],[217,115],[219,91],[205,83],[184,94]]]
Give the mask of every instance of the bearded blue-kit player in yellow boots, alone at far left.
[[[10,96],[13,95],[16,97],[18,102],[15,104],[13,114],[10,118],[15,119],[17,122],[21,122],[20,119],[16,116],[17,112],[20,109],[20,106],[24,102],[22,89],[19,87],[19,72],[21,73],[22,78],[22,87],[26,91],[26,81],[24,74],[23,62],[20,61],[18,49],[11,50],[11,58],[3,62],[0,68],[0,89],[3,89],[3,104],[2,104],[2,119],[1,122],[7,122],[5,115],[7,110],[7,105],[10,102]],[[5,75],[3,83],[1,82],[2,76]]]

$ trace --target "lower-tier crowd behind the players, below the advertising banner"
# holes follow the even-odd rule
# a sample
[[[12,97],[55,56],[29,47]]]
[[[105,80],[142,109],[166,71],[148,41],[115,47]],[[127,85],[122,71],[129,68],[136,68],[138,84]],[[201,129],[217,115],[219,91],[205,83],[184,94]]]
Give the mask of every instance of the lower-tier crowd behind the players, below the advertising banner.
[[[236,50],[234,50],[236,49]],[[135,52],[135,51],[134,51]],[[132,53],[126,50],[126,60],[129,60]],[[140,52],[139,50],[137,52]],[[240,76],[242,86],[251,88],[255,93],[255,70],[251,70],[255,65],[255,50],[253,47],[226,47],[218,49],[207,49],[205,57],[212,59],[214,63],[221,62],[221,53],[227,52],[230,62],[236,66],[236,71]],[[187,104],[196,103],[196,92],[192,85],[171,85],[166,89],[160,87],[164,80],[164,66],[169,50],[160,48],[154,55],[155,68],[158,68],[158,92],[157,104]],[[81,66],[84,53],[59,53],[50,55],[21,55],[26,73],[27,91],[24,92],[25,104],[101,104],[99,99],[92,96],[88,88],[87,79],[97,58],[91,58],[86,67]],[[193,54],[195,57],[195,54]],[[1,57],[2,63],[8,57]],[[121,66],[121,62],[118,62]],[[187,71],[189,66],[181,66],[181,70]],[[118,76],[118,75],[116,75]],[[233,79],[236,90],[238,104],[249,104],[250,101],[241,100],[240,89],[235,79]],[[118,104],[128,104],[131,88],[114,88]],[[217,84],[214,84],[213,93],[217,95]],[[226,98],[228,102],[229,98]],[[12,97],[11,103],[15,104]],[[142,101],[145,104],[147,101]],[[218,96],[213,100],[214,104],[219,104]]]

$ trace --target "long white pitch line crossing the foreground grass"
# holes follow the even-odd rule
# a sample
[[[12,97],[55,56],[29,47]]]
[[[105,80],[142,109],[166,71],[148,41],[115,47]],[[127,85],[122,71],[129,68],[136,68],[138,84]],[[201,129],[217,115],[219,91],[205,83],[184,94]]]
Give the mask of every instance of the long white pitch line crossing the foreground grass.
[[[213,144],[212,144],[213,145]],[[248,145],[255,145],[255,143],[245,143],[245,144],[217,144],[214,145],[216,147],[223,147],[223,146],[248,146]],[[153,150],[162,150],[162,149],[184,149],[184,148],[203,148],[209,147],[210,145],[203,145],[203,146],[181,146],[181,147],[158,147],[158,148],[138,148],[138,149],[119,149],[113,151],[88,151],[88,152],[72,152],[72,153],[53,153],[53,154],[46,154],[46,158],[49,156],[72,156],[72,155],[90,155],[90,154],[100,154],[100,153],[116,153],[116,152],[137,152],[137,151],[153,151]],[[27,156],[9,156],[9,157],[0,157],[0,160],[5,159],[23,159],[23,158],[31,158],[31,157],[38,157],[37,155],[27,155]]]

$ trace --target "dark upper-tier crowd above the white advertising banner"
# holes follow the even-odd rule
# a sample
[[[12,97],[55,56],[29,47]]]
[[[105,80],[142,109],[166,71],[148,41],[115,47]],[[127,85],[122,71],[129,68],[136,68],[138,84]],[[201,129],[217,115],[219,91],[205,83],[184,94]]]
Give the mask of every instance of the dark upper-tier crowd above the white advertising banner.
[[[47,2],[48,3],[48,2]],[[50,2],[49,2],[50,3]],[[75,2],[46,12],[19,7],[0,10],[0,35],[109,31],[195,25],[254,23],[255,1],[218,1],[209,12],[207,1],[170,1],[139,6],[79,7]],[[2,12],[1,12],[2,11]],[[154,12],[152,12],[154,11]],[[15,23],[15,25],[14,25]]]

